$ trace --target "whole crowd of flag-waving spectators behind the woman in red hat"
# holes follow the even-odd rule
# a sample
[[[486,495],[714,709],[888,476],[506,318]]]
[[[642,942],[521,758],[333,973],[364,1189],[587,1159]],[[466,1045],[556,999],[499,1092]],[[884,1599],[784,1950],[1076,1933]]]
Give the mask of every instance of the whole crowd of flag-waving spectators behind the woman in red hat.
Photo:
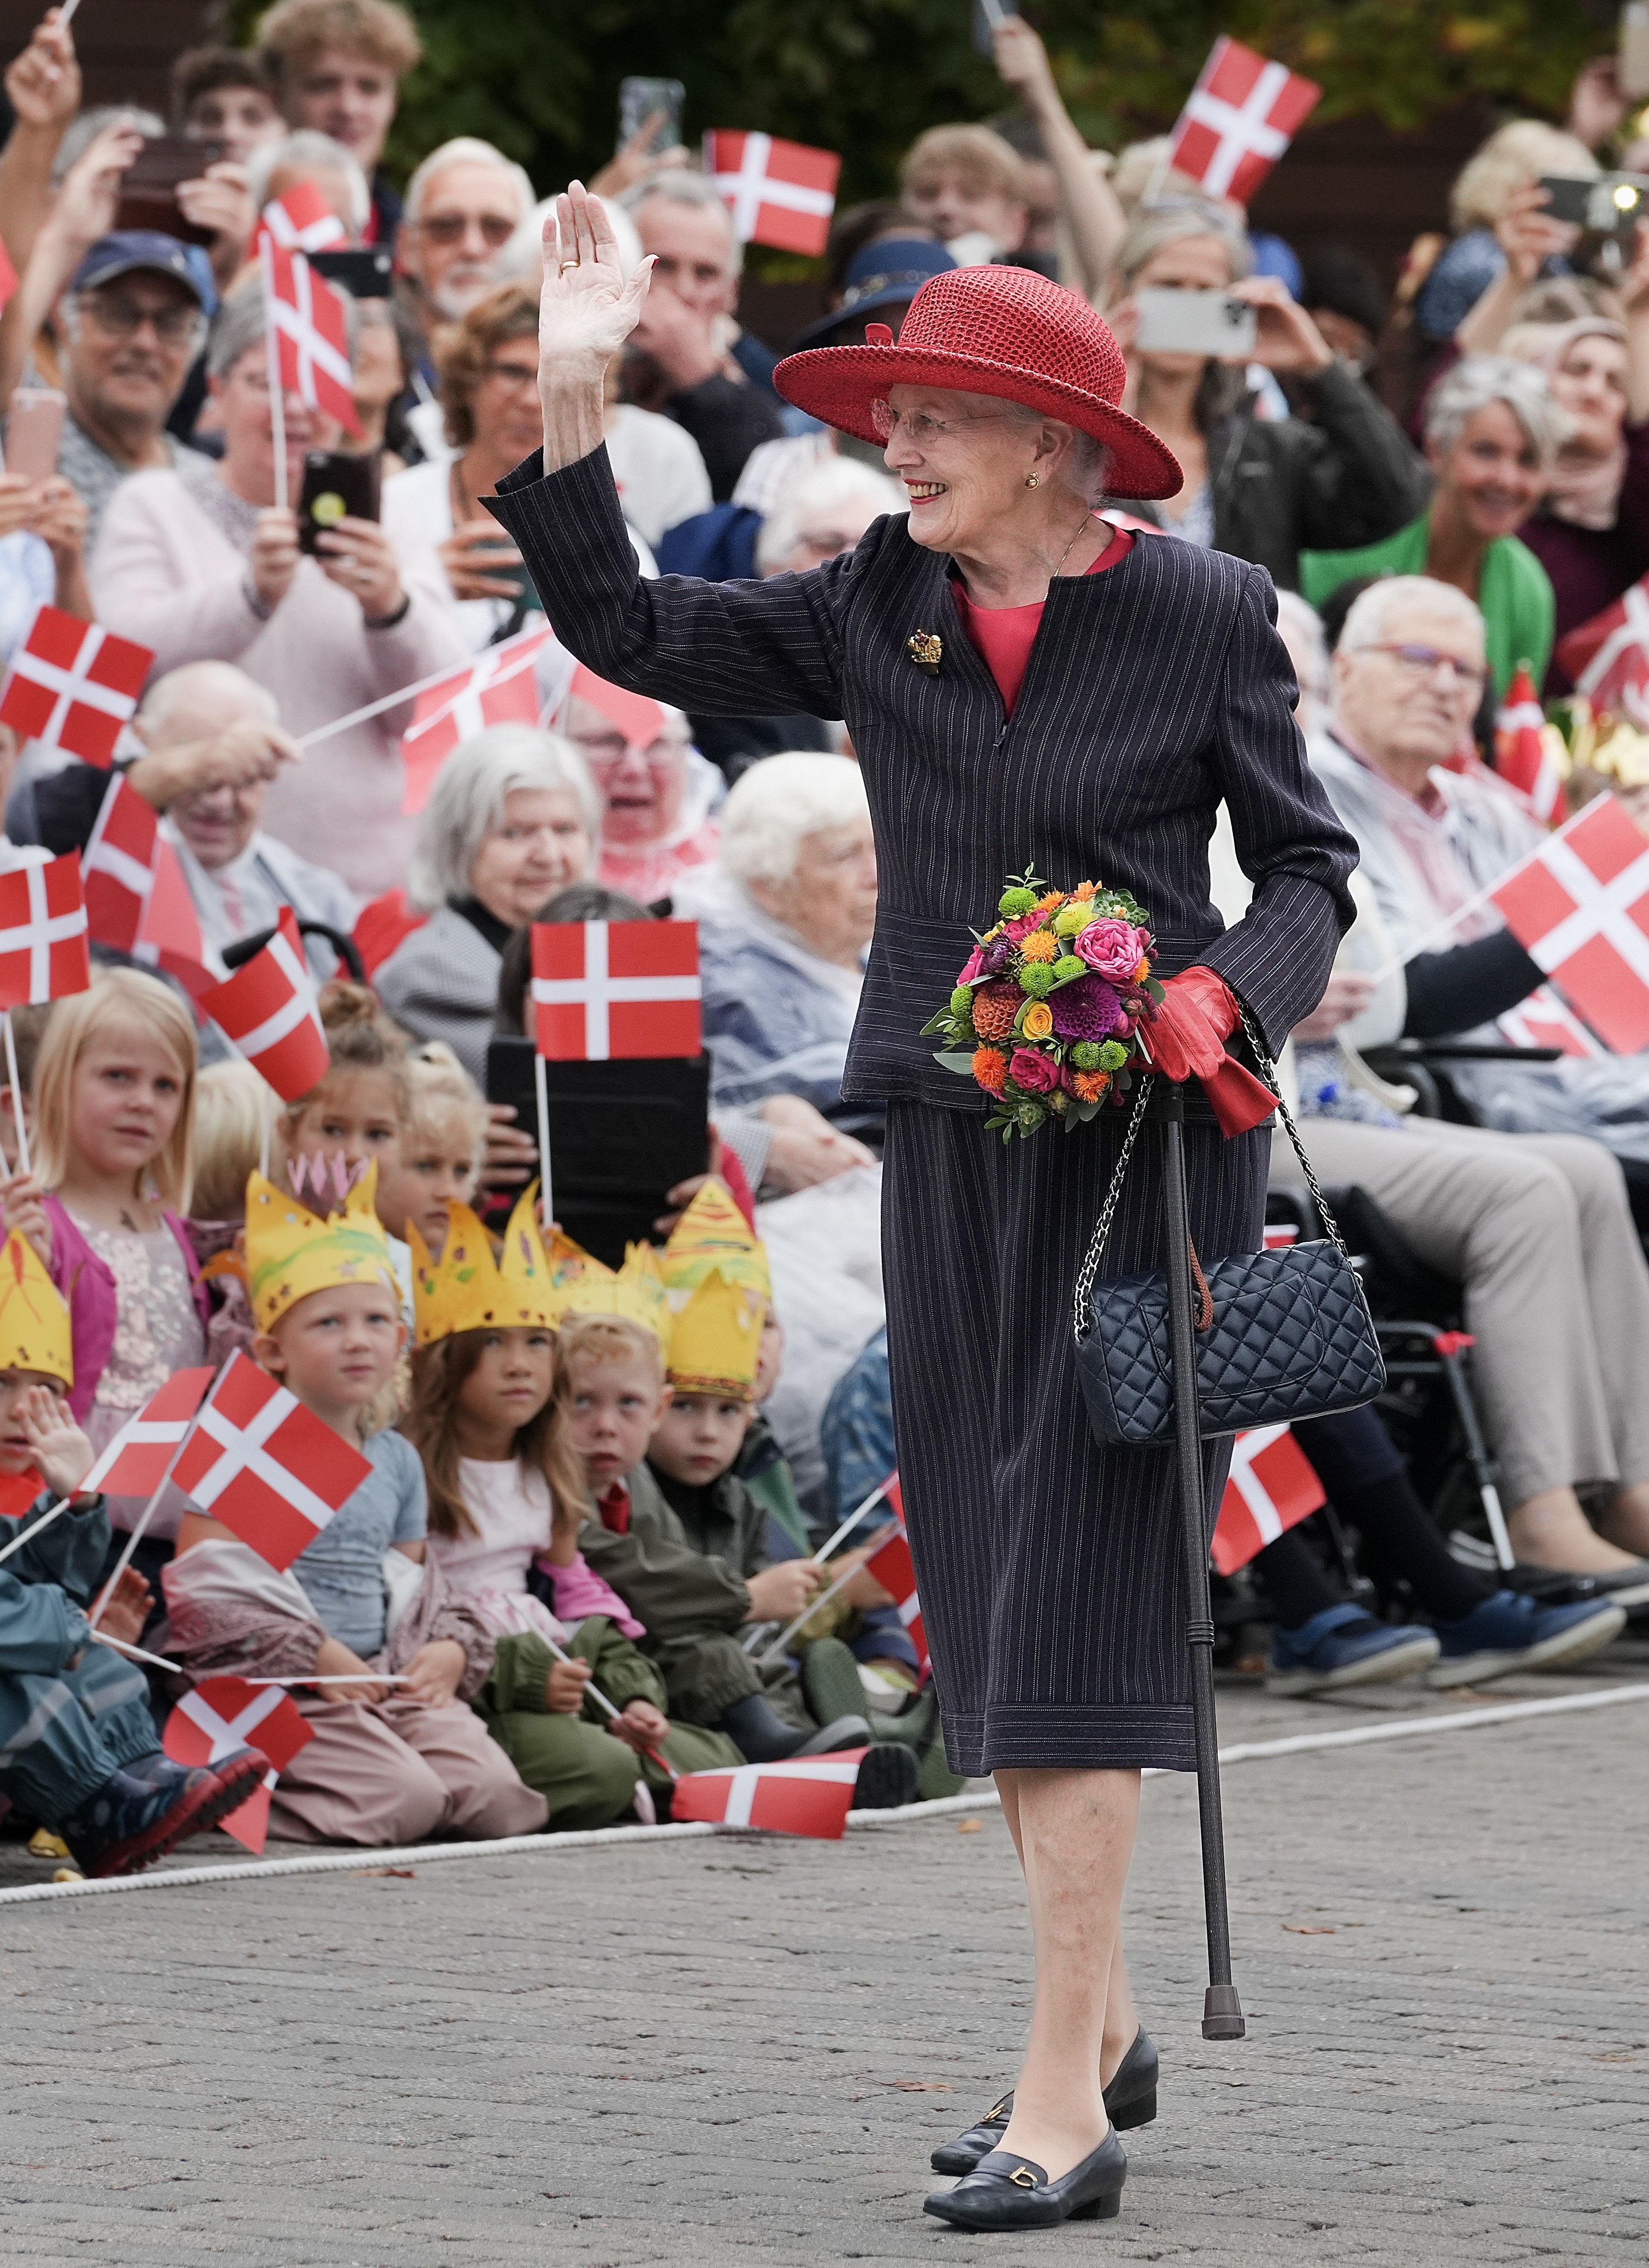
[[[669,1758],[855,1740],[882,1758],[866,1801],[941,1794],[937,1703],[898,1615],[851,1558],[810,1556],[898,1456],[873,1259],[882,1125],[842,1100],[876,925],[844,723],[690,717],[547,637],[535,721],[460,737],[408,792],[408,689],[544,628],[488,497],[540,440],[540,191],[563,186],[472,136],[397,186],[383,150],[417,61],[392,0],[279,0],[247,48],[177,59],[170,120],[84,109],[57,11],[5,73],[0,238],[18,281],[0,413],[9,445],[20,399],[61,401],[61,440],[54,469],[0,472],[0,658],[41,603],[152,649],[118,769],[161,814],[215,973],[293,907],[327,987],[331,1070],[277,1111],[179,984],[111,948],[88,993],[18,1018],[7,1109],[34,1152],[32,1170],[11,1159],[0,1204],[18,1281],[39,1263],[64,1295],[73,1363],[36,1372],[5,1340],[0,1404],[23,1415],[0,1424],[0,1470],[73,1486],[70,1433],[102,1447],[170,1370],[234,1347],[363,1442],[372,1479],[288,1579],[259,1579],[245,1545],[179,1499],[109,1608],[111,1631],[147,1631],[197,1676],[345,1681],[302,1701],[315,1740],[277,1789],[286,1835],[651,1817]],[[1588,236],[1540,186],[1595,177],[1642,122],[1590,70],[1565,127],[1499,127],[1458,177],[1447,236],[1422,238],[1388,293],[1345,247],[1250,229],[1170,172],[1161,141],[1089,150],[1021,18],[996,32],[996,61],[1012,109],[937,122],[885,197],[837,213],[826,306],[794,345],[898,333],[957,265],[1052,277],[1107,315],[1125,406],[1184,467],[1175,497],[1118,519],[1270,572],[1311,762],[1361,846],[1359,919],[1284,1080],[1318,1177],[1372,1200],[1474,1338],[1515,1551],[1495,1565],[1456,1533],[1461,1490],[1411,1463],[1404,1408],[1325,1420],[1300,1440],[1331,1510],[1225,1585],[1223,1626],[1270,1628],[1268,1674],[1291,1694],[1572,1662],[1649,1603],[1649,1073],[1504,1046],[1499,1018],[1542,971],[1486,891],[1542,835],[1495,773],[1497,703],[1520,667],[1547,699],[1570,694],[1558,640],[1649,572],[1649,227]],[[175,191],[175,231],[122,227],[122,181],[168,127],[211,145],[200,177]],[[299,186],[343,247],[388,254],[381,290],[345,293],[356,431],[295,390],[274,417],[256,225]],[[776,392],[792,342],[739,322],[744,247],[690,154],[637,138],[594,188],[624,265],[653,261],[606,404],[640,572],[807,574],[898,515],[880,449]],[[1252,349],[1141,345],[1139,295],[1159,290],[1245,304]],[[311,451],[370,456],[381,510],[306,547],[290,499]],[[0,726],[0,785],[9,869],[84,850],[109,773]],[[1245,891],[1218,837],[1227,919]],[[538,1170],[490,1061],[533,1030],[533,923],[660,916],[699,923],[710,1059],[710,1170],[658,1191],[665,1284],[685,1315],[703,1272],[692,1236],[674,1277],[671,1252],[705,1204],[726,1207],[714,1243],[739,1252],[760,1309],[737,1393],[694,1383],[637,1256],[619,1277],[551,1236],[558,1286],[583,1268],[585,1293],[603,1288],[490,1340],[442,1336],[420,1304],[456,1225],[472,1234],[454,1209],[490,1207],[501,1227]],[[1402,1048],[1447,1036],[1479,1052],[1438,1116]],[[111,1080],[141,1095],[118,1125],[98,1100]],[[615,1114],[615,1139],[624,1107],[590,1105]],[[9,1118],[0,1139],[11,1150]],[[315,1157],[374,1168],[372,1202],[352,1191],[343,1227],[311,1220],[322,1275],[293,1302],[259,1275],[256,1207],[286,1202],[281,1177]],[[1282,1145],[1275,1195],[1304,1207]],[[517,1220],[510,1250],[528,1229]],[[302,1327],[311,1300],[343,1297],[327,1236],[365,1238],[349,1250],[372,1279],[345,1286],[361,1297],[333,1318],[365,1349],[343,1399]],[[73,1422],[52,1415],[59,1397]],[[86,1864],[113,1867],[118,1844],[88,1823],[93,1767],[122,1780],[138,1837],[161,1796],[184,1801],[150,1769],[150,1701],[127,1721],[73,1642],[134,1513],[109,1499],[0,1569],[0,1719],[50,1653],[54,1592],[48,1678],[113,1728],[0,1769],[0,1799]],[[744,1637],[796,1622],[832,1574],[830,1606],[762,1665]],[[1236,1658],[1266,1667],[1263,1647]],[[612,1730],[597,1687],[619,1703]],[[157,1674],[154,1708],[175,1692]],[[191,1817],[222,1810],[200,1787],[188,1801]]]

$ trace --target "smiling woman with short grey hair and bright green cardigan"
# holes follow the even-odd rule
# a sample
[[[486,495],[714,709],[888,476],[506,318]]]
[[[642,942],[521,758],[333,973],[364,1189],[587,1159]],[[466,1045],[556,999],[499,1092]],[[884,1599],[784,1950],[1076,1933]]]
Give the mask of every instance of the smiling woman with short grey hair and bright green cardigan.
[[[1483,612],[1495,699],[1517,662],[1529,662],[1538,685],[1551,660],[1551,581],[1515,531],[1540,503],[1567,429],[1545,372],[1504,354],[1456,363],[1427,401],[1431,503],[1379,544],[1302,551],[1300,590],[1322,606],[1363,576],[1449,583]]]

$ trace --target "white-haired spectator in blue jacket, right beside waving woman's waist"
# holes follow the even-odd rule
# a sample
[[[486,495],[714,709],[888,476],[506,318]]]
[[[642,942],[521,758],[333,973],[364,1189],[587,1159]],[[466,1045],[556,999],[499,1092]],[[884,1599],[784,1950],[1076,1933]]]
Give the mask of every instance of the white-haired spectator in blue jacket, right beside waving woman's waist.
[[[842,1120],[842,1066],[876,928],[876,846],[860,767],[769,755],[721,810],[726,919],[701,925],[712,1100],[801,1095]],[[853,1127],[871,1120],[853,1116]]]

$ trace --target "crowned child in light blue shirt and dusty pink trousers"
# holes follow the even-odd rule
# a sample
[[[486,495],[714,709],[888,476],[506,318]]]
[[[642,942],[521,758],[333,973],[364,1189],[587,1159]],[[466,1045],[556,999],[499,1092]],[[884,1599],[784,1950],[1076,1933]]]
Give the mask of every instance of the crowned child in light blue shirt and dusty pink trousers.
[[[361,1449],[372,1476],[284,1574],[186,1513],[163,1574],[170,1644],[193,1676],[347,1678],[297,1696],[313,1740],[281,1774],[270,1833],[354,1844],[528,1835],[544,1799],[465,1706],[492,1640],[422,1565],[424,1470],[383,1431],[406,1327],[374,1182],[377,1166],[327,1218],[261,1175],[247,1186],[256,1361]]]

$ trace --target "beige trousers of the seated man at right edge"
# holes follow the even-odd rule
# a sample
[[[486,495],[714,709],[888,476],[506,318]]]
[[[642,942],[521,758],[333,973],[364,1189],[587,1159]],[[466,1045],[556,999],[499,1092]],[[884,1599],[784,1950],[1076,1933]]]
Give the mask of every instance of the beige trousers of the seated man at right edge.
[[[1356,1182],[1465,1286],[1472,1379],[1506,1506],[1649,1481],[1649,1266],[1610,1152],[1583,1134],[1300,1123],[1325,1186]],[[1288,1139],[1272,1182],[1300,1186]]]

